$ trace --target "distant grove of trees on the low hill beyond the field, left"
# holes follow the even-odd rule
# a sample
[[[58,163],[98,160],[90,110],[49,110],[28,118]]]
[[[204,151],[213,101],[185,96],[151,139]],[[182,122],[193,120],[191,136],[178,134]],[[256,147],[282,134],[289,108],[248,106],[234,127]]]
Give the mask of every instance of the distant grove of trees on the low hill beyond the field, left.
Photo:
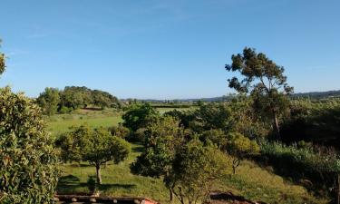
[[[66,86],[63,90],[45,88],[36,102],[47,115],[68,113],[79,108],[121,108],[121,102],[109,92],[91,90],[85,86]]]

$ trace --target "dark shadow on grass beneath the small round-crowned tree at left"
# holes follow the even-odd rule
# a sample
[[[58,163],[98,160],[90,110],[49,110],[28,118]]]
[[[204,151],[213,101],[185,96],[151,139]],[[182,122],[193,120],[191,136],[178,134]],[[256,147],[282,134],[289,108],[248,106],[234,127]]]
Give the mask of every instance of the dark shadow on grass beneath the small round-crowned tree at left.
[[[91,195],[95,189],[100,191],[116,191],[124,190],[130,192],[136,189],[135,184],[102,184],[96,185],[94,177],[89,177],[88,182],[79,182],[79,178],[73,175],[67,175],[62,177],[57,185],[57,192],[59,194],[77,194],[77,195]]]

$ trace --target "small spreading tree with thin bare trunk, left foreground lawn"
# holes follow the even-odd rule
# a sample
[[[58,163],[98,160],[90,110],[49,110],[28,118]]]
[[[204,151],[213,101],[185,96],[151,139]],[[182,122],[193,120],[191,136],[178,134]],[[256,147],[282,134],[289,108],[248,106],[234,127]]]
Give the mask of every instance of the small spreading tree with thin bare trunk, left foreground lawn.
[[[110,160],[116,164],[126,160],[131,151],[129,142],[112,136],[106,129],[92,130],[85,125],[64,134],[57,144],[62,149],[63,160],[84,160],[93,165],[98,184],[102,184],[101,165]]]

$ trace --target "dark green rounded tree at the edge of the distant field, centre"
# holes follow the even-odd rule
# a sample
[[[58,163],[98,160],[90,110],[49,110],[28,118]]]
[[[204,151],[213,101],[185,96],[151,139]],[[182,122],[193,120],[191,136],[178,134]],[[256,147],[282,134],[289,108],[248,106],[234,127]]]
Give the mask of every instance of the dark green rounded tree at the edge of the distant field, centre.
[[[131,131],[137,131],[140,128],[145,128],[148,122],[159,116],[149,103],[134,104],[122,115],[124,120],[122,125],[129,128]]]

